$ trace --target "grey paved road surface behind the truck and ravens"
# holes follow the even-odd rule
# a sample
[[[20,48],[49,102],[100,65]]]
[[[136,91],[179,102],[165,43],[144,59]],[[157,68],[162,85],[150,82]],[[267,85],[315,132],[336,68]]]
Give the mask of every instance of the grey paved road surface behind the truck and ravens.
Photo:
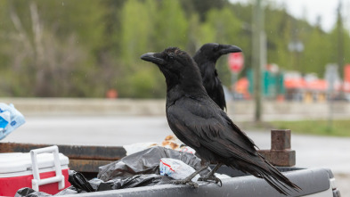
[[[125,145],[162,142],[172,134],[165,117],[27,117],[3,142]],[[270,148],[268,131],[247,131],[260,149]],[[298,167],[327,167],[350,174],[350,138],[292,135]]]

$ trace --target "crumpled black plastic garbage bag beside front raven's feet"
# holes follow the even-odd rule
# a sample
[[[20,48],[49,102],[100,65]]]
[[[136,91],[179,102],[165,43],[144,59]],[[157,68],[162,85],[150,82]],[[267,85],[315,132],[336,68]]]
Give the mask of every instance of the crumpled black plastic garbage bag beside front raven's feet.
[[[159,175],[159,160],[162,158],[182,160],[196,170],[201,168],[201,160],[194,154],[155,146],[143,150],[142,152],[135,152],[121,160],[100,167],[100,172],[97,177],[103,181],[109,181],[111,179],[122,179],[140,174]],[[208,172],[209,170],[204,170],[200,174],[206,175]]]

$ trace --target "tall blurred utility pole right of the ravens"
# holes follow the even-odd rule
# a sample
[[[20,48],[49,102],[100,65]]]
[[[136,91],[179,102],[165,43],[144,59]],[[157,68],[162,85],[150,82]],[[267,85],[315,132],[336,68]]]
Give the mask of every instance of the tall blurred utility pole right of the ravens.
[[[263,59],[264,59],[264,50],[265,50],[265,34],[264,34],[264,11],[261,4],[262,0],[256,0],[256,4],[254,5],[253,10],[253,54],[252,54],[252,62],[254,68],[254,94],[255,94],[255,121],[261,121],[261,113],[262,113],[262,95],[261,95],[261,74],[263,67]]]

